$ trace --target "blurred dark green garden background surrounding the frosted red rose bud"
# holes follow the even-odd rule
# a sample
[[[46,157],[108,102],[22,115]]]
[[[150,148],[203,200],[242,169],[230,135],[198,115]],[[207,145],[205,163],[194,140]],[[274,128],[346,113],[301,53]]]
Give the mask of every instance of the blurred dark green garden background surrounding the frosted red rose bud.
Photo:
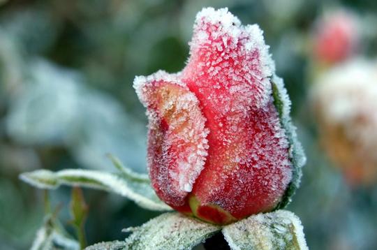
[[[293,102],[307,163],[288,209],[310,249],[377,249],[377,1],[0,0],[0,249],[29,249],[43,224],[38,168],[146,171],[135,75],[180,71],[195,14],[228,7],[258,23]],[[158,213],[84,190],[88,244]],[[74,235],[71,189],[50,192]]]

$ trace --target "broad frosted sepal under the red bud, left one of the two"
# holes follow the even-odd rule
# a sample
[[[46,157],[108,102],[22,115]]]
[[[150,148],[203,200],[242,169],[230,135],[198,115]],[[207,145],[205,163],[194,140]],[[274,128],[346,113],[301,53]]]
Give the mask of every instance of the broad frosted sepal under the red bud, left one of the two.
[[[166,213],[151,219],[126,238],[126,249],[191,249],[212,236],[220,227],[179,213]]]

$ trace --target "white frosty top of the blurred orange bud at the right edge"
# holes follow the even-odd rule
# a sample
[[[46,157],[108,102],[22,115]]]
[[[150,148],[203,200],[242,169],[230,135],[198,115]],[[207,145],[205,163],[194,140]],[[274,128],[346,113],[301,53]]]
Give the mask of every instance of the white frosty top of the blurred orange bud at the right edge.
[[[376,61],[355,59],[333,68],[318,79],[312,98],[324,124],[341,126],[357,154],[377,160]]]

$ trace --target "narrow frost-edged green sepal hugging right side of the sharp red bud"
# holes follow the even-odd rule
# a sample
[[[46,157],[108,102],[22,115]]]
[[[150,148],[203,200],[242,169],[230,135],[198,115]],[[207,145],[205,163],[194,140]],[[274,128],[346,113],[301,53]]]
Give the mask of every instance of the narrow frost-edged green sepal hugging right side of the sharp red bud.
[[[276,75],[272,78],[272,96],[274,97],[274,105],[279,112],[281,125],[288,138],[290,145],[289,156],[293,168],[292,179],[290,184],[288,184],[288,189],[278,207],[276,207],[276,209],[279,209],[286,207],[290,203],[290,197],[293,196],[296,189],[300,186],[302,166],[306,163],[306,156],[301,143],[297,140],[296,127],[290,119],[290,98],[284,87],[283,80]]]

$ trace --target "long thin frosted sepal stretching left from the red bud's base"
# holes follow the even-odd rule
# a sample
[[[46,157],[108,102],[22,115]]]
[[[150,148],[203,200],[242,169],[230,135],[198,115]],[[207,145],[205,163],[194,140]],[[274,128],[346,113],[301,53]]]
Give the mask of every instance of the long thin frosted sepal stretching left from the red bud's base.
[[[146,209],[170,210],[168,205],[158,199],[147,177],[132,178],[124,174],[96,170],[66,169],[58,172],[50,170],[25,172],[20,175],[20,179],[40,189],[57,189],[60,185],[67,185],[111,191],[133,200]]]

